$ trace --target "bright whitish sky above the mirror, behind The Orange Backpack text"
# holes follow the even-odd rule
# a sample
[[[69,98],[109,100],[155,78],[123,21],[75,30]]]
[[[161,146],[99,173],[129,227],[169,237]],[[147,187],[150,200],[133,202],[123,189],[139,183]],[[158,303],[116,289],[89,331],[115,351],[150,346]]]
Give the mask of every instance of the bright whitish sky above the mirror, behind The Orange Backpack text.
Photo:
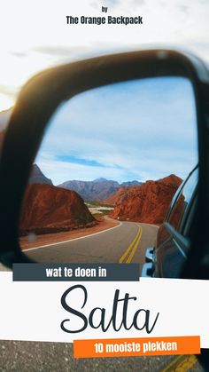
[[[140,26],[67,25],[66,15],[143,16]],[[6,0],[0,11],[0,111],[44,68],[110,52],[168,46],[209,61],[208,0]]]

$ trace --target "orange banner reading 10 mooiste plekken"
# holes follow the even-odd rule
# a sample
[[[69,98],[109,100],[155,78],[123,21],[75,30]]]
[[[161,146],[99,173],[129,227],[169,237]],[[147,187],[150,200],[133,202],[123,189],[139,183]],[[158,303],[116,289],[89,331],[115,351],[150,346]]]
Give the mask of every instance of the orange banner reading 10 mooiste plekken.
[[[74,340],[74,358],[108,358],[199,353],[199,336]]]

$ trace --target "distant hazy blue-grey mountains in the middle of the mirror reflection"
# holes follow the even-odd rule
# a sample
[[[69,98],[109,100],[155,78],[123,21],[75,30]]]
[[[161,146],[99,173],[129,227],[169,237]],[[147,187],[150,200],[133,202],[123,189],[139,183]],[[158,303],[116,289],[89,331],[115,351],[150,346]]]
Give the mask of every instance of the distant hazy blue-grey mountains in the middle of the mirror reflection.
[[[97,178],[94,181],[66,181],[58,187],[71,189],[80,194],[85,201],[103,201],[110,195],[114,194],[120,187],[129,185],[140,185],[138,181],[125,182],[119,184],[105,178]]]

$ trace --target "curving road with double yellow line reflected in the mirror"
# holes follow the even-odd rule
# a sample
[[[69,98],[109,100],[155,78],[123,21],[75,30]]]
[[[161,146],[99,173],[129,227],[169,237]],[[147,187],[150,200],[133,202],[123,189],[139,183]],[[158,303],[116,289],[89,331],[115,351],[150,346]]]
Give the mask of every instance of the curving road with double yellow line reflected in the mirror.
[[[38,262],[144,263],[145,249],[156,241],[158,226],[121,222],[109,230],[71,241],[25,249]]]

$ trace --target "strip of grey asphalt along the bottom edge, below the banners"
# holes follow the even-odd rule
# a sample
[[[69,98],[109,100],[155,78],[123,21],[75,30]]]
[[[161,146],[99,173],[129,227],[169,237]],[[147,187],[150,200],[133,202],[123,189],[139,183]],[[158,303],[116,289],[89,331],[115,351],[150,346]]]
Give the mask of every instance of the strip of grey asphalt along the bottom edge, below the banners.
[[[0,341],[1,372],[203,372],[191,356],[73,357],[72,344]]]

